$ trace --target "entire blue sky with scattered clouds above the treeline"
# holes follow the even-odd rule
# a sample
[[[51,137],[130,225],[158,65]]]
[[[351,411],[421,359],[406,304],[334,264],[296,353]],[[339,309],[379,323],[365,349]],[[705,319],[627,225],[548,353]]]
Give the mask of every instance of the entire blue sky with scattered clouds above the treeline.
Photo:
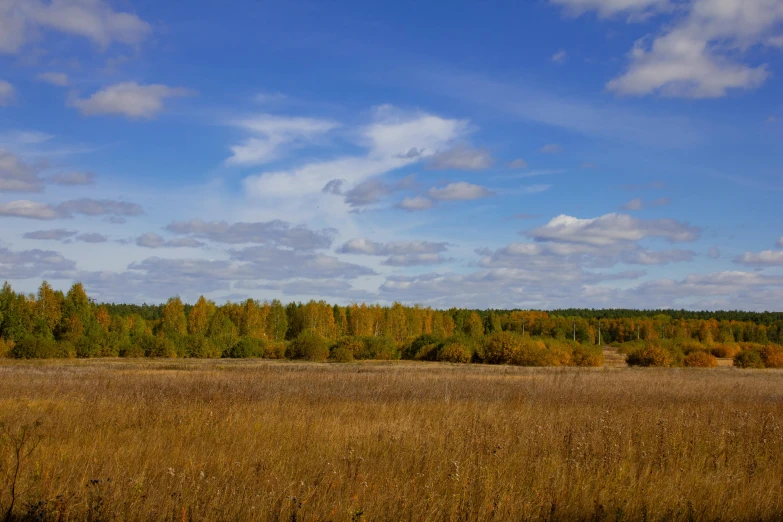
[[[0,280],[783,310],[783,0],[0,0]]]

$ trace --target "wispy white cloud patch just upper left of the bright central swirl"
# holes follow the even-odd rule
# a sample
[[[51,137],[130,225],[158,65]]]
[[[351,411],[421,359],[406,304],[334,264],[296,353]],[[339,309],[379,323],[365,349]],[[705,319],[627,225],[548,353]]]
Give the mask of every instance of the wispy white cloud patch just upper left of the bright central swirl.
[[[234,123],[253,136],[231,147],[230,165],[262,165],[338,127],[329,120],[262,114]]]

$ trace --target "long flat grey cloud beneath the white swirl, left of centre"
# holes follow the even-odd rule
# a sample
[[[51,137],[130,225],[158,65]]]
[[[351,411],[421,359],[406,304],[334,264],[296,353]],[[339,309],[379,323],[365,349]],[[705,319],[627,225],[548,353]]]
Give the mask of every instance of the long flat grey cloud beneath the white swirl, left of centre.
[[[215,243],[255,243],[267,246],[282,246],[296,250],[329,248],[334,229],[319,231],[304,226],[292,226],[280,220],[255,223],[227,223],[226,221],[175,221],[166,227],[173,234],[189,234]]]

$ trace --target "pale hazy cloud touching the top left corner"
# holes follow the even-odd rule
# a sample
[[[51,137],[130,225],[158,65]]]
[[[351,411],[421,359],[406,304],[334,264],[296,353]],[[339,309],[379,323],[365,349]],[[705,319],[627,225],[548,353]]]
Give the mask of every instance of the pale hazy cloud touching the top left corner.
[[[3,0],[0,52],[16,53],[40,28],[88,38],[101,47],[138,44],[150,26],[131,13],[117,12],[103,0]]]

